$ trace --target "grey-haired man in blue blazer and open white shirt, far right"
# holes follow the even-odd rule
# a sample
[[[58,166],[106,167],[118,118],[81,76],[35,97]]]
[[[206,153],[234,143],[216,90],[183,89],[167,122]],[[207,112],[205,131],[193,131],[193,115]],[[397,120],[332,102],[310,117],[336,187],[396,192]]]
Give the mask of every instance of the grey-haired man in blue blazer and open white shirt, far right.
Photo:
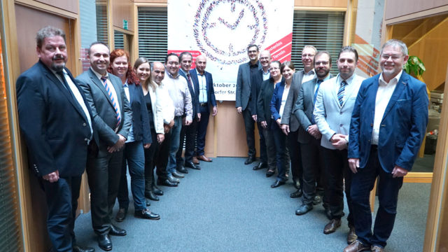
[[[402,71],[409,55],[402,41],[386,41],[382,73],[364,80],[351,117],[349,167],[358,239],[344,251],[384,251],[391,235],[403,176],[412,169],[428,124],[426,85]],[[372,233],[369,195],[374,181],[379,209]]]

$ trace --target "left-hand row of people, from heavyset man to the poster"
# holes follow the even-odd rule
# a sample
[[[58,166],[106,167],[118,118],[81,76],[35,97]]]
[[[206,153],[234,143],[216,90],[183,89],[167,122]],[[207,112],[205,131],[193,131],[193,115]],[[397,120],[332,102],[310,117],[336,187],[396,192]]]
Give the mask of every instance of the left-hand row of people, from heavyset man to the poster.
[[[53,251],[94,251],[76,243],[73,232],[81,176],[87,172],[92,228],[99,248],[110,251],[111,235],[126,231],[112,221],[127,216],[130,189],[134,216],[158,220],[150,200],[160,200],[156,186],[176,187],[200,169],[209,116],[218,109],[207,58],[171,53],[165,62],[140,57],[94,42],[87,52],[90,69],[73,78],[66,68],[64,31],[43,27],[36,35],[38,62],[16,83],[19,125],[29,165],[43,188],[47,229]],[[185,160],[182,158],[186,142]],[[155,168],[156,167],[156,168]]]

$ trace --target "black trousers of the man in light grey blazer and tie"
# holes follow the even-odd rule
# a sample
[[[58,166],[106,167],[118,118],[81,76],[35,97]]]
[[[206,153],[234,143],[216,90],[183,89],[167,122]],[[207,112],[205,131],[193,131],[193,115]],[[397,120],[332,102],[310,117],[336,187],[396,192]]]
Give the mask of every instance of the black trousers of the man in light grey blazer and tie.
[[[324,160],[325,181],[327,182],[328,203],[332,218],[342,218],[344,214],[344,191],[343,186],[345,182],[345,196],[347,205],[349,207],[349,215],[347,221],[349,226],[354,226],[353,211],[350,196],[351,177],[353,173],[349,168],[349,160],[347,158],[347,150],[331,150],[322,147],[322,158]]]

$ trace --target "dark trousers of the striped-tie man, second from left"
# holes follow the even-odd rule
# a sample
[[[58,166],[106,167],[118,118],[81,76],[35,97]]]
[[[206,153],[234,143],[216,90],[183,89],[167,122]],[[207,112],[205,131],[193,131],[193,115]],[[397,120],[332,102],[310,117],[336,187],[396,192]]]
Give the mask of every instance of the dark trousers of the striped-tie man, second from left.
[[[120,185],[123,151],[100,150],[97,157],[87,155],[92,227],[97,235],[107,235],[113,219],[113,205]]]

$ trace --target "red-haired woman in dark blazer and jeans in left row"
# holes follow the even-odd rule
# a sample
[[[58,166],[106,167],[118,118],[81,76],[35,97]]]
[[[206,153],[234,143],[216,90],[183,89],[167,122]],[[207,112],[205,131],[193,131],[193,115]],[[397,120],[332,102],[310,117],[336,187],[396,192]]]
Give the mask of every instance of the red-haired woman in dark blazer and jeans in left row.
[[[143,92],[139,80],[132,71],[129,62],[129,52],[116,49],[111,52],[111,64],[109,73],[118,76],[125,89],[125,94],[132,109],[132,126],[126,139],[123,151],[123,168],[118,188],[118,204],[120,209],[116,221],[126,218],[129,197],[127,191],[126,165],[131,176],[131,191],[134,197],[134,216],[151,220],[160,219],[158,214],[153,214],[146,207],[145,200],[145,155],[144,148],[149,148],[152,143],[149,130],[148,111],[144,102]]]

